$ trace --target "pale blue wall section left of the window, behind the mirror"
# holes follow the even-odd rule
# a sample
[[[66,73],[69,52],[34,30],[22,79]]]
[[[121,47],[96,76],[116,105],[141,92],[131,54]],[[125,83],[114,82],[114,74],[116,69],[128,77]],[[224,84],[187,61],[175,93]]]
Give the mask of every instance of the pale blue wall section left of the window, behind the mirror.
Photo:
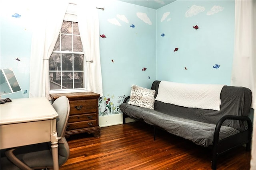
[[[28,91],[25,90],[29,90],[32,23],[25,4],[21,1],[1,1],[0,5],[0,68],[12,68],[22,89],[2,98],[28,98]]]

